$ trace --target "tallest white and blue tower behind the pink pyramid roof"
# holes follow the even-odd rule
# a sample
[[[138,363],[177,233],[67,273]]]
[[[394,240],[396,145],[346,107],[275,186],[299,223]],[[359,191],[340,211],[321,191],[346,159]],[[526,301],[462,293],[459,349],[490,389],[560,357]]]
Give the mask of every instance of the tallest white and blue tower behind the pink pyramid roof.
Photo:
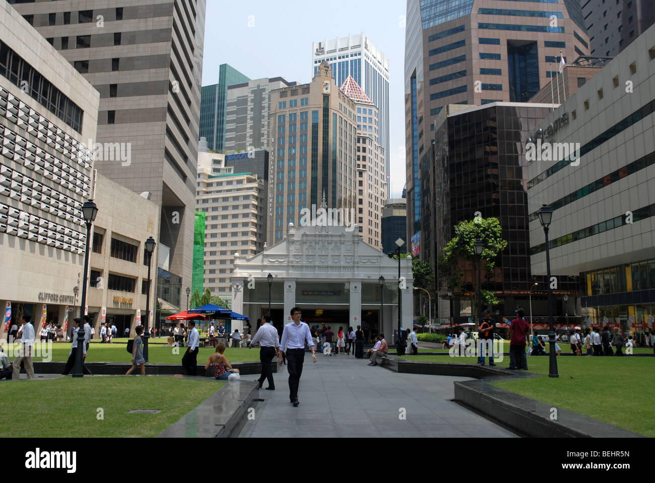
[[[365,33],[338,37],[337,39],[312,44],[313,75],[318,74],[322,62],[329,63],[337,86],[343,85],[348,76],[359,84],[373,104],[379,109],[380,117],[373,126],[373,142],[384,149],[386,164],[384,172],[390,172],[389,151],[389,60]],[[389,183],[386,197],[391,196]]]

